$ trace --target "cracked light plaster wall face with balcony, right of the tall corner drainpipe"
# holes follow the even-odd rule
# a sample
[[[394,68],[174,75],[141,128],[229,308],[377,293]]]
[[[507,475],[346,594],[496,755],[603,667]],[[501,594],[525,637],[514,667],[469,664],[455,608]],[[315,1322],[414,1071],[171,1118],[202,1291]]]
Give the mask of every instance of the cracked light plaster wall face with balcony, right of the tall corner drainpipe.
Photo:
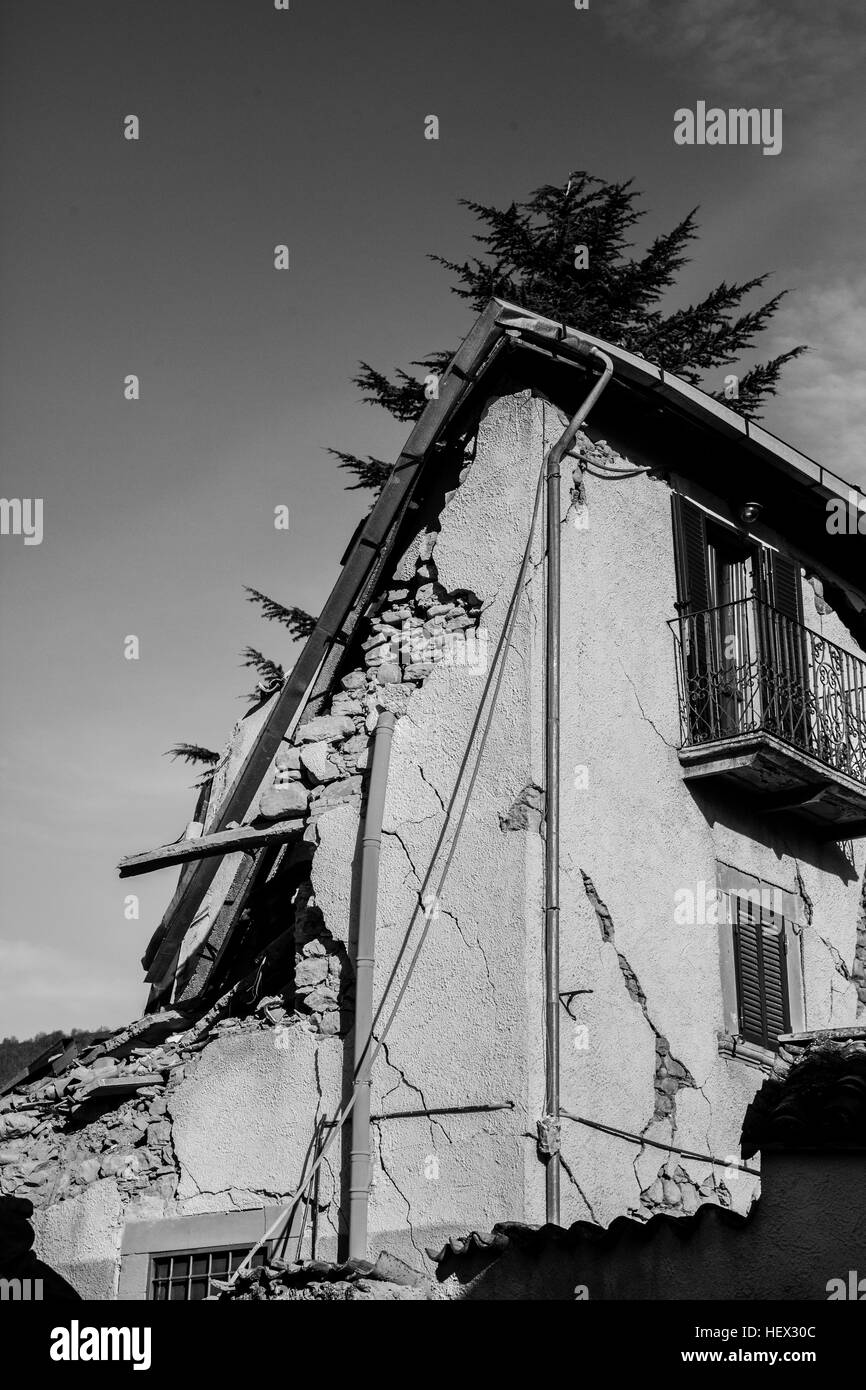
[[[669,486],[648,475],[612,482],[584,474],[582,482],[581,520],[588,525],[563,527],[563,613],[574,619],[566,617],[563,651],[563,691],[570,695],[562,731],[562,987],[592,992],[574,999],[588,1047],[563,1066],[563,1106],[726,1158],[738,1154],[742,1113],[763,1076],[719,1055],[717,927],[677,924],[674,894],[699,892],[701,881],[712,887],[716,860],[790,891],[802,881],[813,910],[801,937],[808,1026],[851,1023],[855,990],[838,960],[853,959],[862,845],[855,866],[841,865],[834,847],[816,849],[815,838],[790,820],[767,823],[745,803],[731,809],[712,794],[692,796],[676,753]],[[588,596],[592,609],[581,621]],[[838,628],[835,620],[827,635],[838,639]],[[847,642],[856,651],[849,637]],[[571,766],[587,769],[574,788]],[[603,899],[613,924],[609,940],[584,876]],[[688,1072],[687,1079],[662,1077],[663,1094],[673,1093],[669,1113],[659,1105],[659,1037]],[[588,1215],[605,1225],[662,1202],[689,1211],[698,1200],[717,1200],[746,1209],[755,1191],[753,1180],[735,1169],[713,1170],[673,1154],[666,1159],[657,1150],[639,1151],[567,1123],[563,1152],[575,1175],[587,1175]],[[587,1212],[575,1204],[574,1216],[581,1215]]]

